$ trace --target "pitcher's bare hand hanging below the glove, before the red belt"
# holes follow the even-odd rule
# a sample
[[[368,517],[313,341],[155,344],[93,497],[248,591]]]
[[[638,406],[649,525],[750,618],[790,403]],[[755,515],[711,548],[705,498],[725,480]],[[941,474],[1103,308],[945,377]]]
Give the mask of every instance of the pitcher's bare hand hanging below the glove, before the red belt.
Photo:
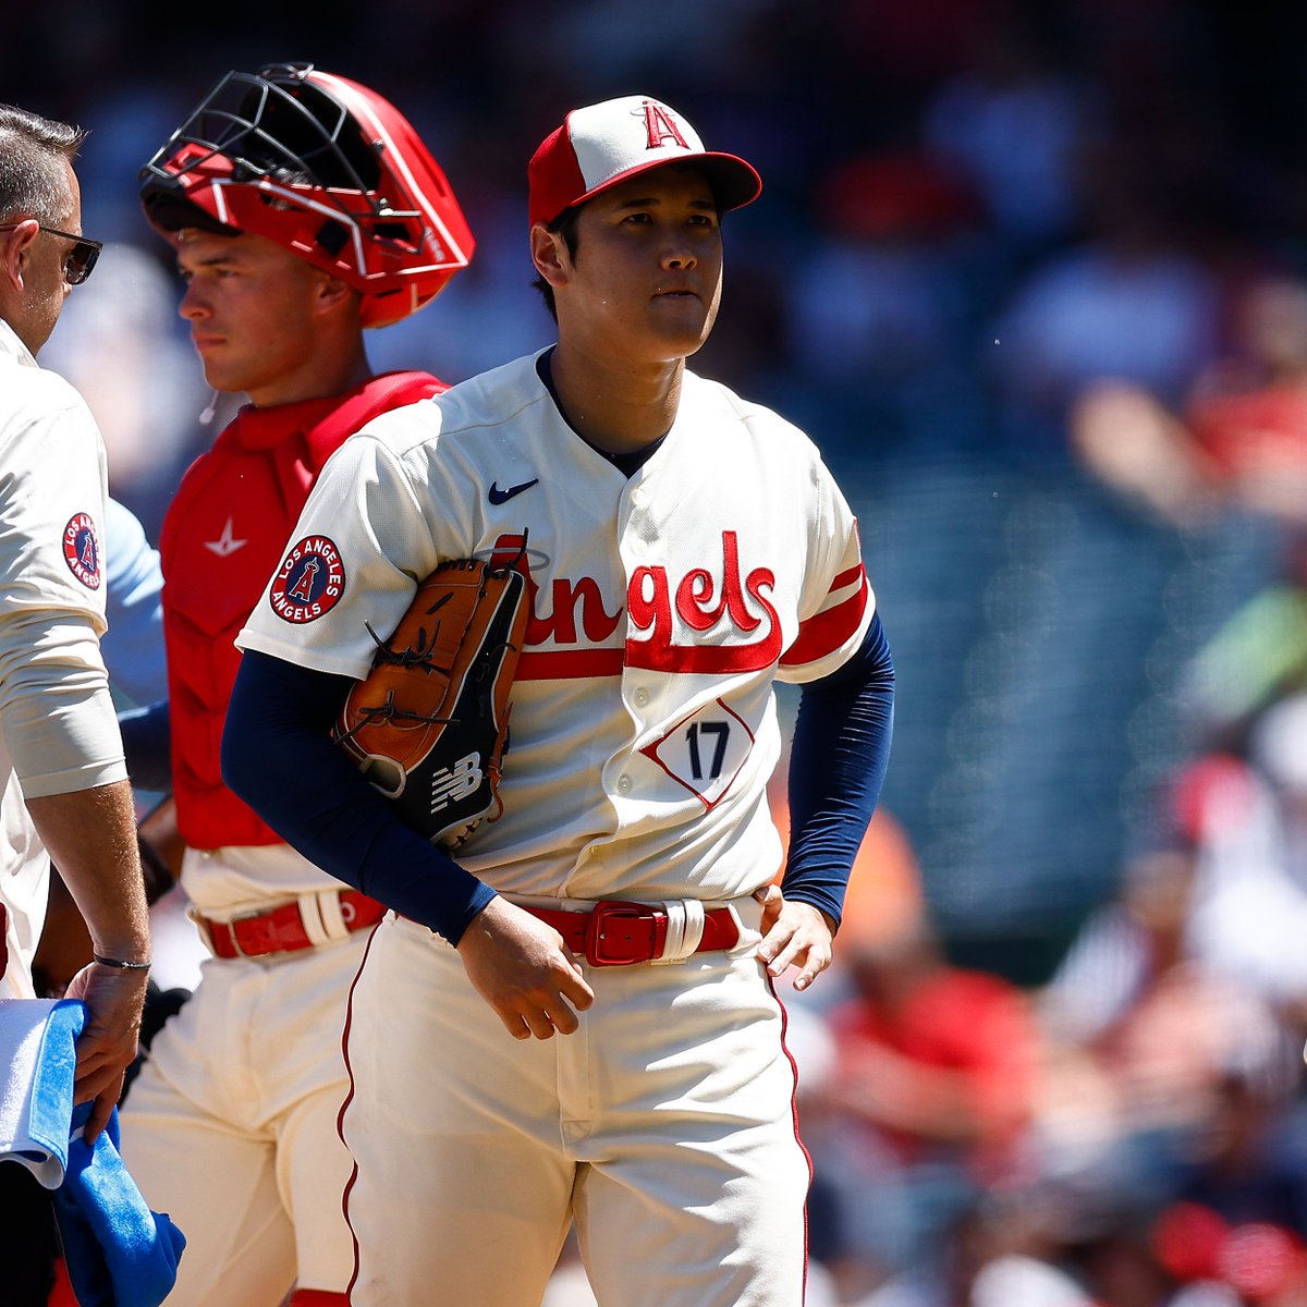
[[[580,1026],[576,1012],[595,1001],[562,936],[499,895],[463,932],[459,955],[514,1039],[570,1035]]]

